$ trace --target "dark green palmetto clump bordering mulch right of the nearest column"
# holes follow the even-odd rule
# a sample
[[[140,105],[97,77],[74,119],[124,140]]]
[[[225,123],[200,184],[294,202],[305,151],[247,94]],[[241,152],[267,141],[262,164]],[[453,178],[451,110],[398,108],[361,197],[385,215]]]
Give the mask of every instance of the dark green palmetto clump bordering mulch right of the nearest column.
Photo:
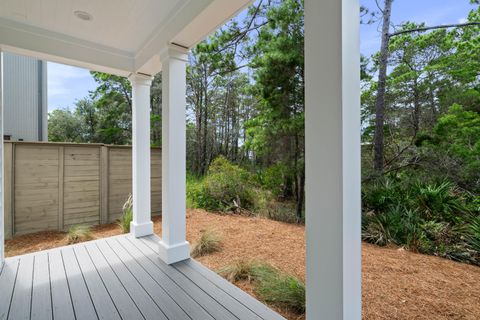
[[[480,264],[480,215],[472,197],[446,180],[414,174],[364,184],[363,240]]]

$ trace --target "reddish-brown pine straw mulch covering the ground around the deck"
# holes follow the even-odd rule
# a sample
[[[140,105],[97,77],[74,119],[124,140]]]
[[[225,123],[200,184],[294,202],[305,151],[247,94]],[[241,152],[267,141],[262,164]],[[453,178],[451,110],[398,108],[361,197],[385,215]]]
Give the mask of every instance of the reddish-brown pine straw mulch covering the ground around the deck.
[[[161,219],[154,218],[155,232]],[[304,228],[300,225],[233,215],[188,210],[190,243],[202,230],[213,229],[223,238],[220,252],[200,257],[217,270],[238,259],[269,262],[304,279]],[[97,238],[120,234],[117,225],[94,228]],[[42,232],[6,241],[6,255],[13,256],[66,245],[65,234]],[[480,319],[480,268],[442,258],[363,244],[364,319]],[[237,283],[253,293],[248,283]],[[278,310],[288,319],[302,316]]]

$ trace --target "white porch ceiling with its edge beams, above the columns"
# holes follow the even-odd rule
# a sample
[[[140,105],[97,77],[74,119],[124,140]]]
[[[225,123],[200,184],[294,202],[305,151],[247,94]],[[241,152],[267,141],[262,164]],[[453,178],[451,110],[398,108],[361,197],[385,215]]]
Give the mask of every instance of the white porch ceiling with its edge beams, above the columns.
[[[119,75],[155,74],[168,44],[191,48],[250,2],[0,0],[0,48]]]

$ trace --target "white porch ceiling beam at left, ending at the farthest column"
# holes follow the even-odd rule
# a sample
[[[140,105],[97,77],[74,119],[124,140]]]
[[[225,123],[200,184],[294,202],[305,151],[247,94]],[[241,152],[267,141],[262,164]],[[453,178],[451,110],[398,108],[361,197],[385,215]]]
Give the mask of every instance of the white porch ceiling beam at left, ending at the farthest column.
[[[121,76],[134,70],[131,53],[2,18],[0,49]]]

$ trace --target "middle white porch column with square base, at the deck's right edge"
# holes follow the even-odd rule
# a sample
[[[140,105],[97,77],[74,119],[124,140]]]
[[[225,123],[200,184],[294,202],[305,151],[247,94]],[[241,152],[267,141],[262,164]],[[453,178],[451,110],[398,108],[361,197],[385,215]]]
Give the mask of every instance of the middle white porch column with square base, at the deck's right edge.
[[[162,241],[168,264],[190,257],[186,241],[186,62],[187,51],[170,46],[162,60]]]

